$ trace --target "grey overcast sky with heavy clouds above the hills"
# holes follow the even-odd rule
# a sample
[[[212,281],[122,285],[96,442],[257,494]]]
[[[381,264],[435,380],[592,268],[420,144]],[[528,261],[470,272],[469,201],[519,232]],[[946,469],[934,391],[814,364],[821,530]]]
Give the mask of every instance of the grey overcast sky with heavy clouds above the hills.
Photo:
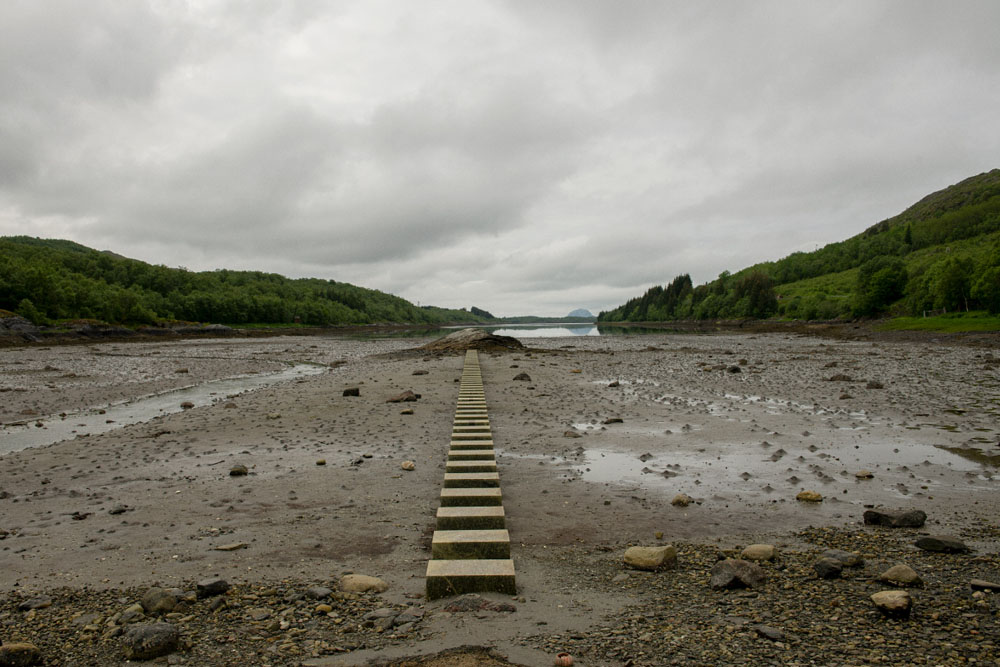
[[[0,235],[594,313],[1000,167],[1000,2],[4,0]]]

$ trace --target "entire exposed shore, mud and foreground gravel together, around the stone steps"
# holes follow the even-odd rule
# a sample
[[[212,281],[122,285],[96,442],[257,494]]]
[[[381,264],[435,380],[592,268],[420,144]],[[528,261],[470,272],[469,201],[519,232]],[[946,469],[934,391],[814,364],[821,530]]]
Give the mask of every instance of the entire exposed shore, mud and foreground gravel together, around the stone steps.
[[[1000,582],[997,340],[651,334],[483,353],[518,595],[427,602],[462,369],[408,352],[429,340],[0,349],[0,665],[20,664],[3,662],[18,643],[38,664],[125,664],[152,621],[176,632],[170,664],[1000,664],[997,594],[972,584]],[[386,402],[406,390],[419,400]],[[38,433],[68,439],[25,448]],[[870,509],[927,520],[865,525]],[[914,546],[926,535],[968,551]],[[675,569],[623,563],[666,544]],[[751,544],[775,548],[762,582],[713,588]],[[864,563],[822,578],[827,549]],[[903,588],[879,580],[899,563],[921,578],[905,619],[871,600]],[[388,588],[340,591],[348,573]],[[230,587],[200,596],[209,579]],[[176,605],[143,607],[150,588]]]

